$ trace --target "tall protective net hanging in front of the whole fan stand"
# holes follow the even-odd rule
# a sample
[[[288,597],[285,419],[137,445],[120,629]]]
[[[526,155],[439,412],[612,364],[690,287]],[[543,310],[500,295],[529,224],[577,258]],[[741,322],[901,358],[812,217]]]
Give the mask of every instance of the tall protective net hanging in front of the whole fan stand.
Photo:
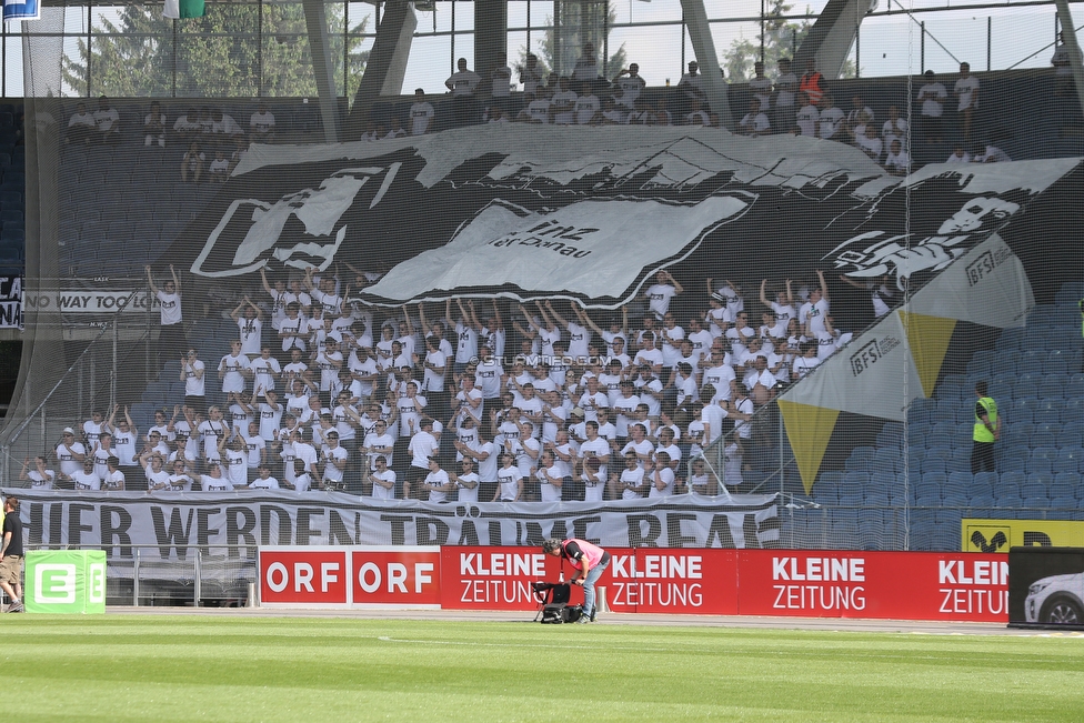
[[[1084,121],[1050,9],[1018,40],[877,14],[842,78],[781,63],[797,21],[752,23],[763,79],[714,23],[712,107],[615,56],[693,59],[680,18],[569,2],[533,3],[544,68],[526,20],[478,81],[453,3],[412,10],[395,90],[440,81],[358,102],[360,4],[325,7],[324,102],[302,3],[27,26],[0,474],[40,543],[971,550],[972,520],[1081,520]]]

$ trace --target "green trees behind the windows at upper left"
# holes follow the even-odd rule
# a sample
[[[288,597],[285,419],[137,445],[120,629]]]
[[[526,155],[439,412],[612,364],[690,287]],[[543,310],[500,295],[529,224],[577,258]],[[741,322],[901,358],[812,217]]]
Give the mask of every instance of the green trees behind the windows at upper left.
[[[76,56],[64,57],[64,84],[73,96],[169,97],[175,69],[179,97],[315,96],[302,6],[263,4],[262,38],[260,8],[208,3],[205,17],[172,21],[154,6],[124,6],[116,19],[100,17],[89,49],[80,39]],[[369,60],[363,39],[353,34],[365,31],[370,16],[350,28],[344,40],[343,6],[327,8],[335,90],[351,97]]]

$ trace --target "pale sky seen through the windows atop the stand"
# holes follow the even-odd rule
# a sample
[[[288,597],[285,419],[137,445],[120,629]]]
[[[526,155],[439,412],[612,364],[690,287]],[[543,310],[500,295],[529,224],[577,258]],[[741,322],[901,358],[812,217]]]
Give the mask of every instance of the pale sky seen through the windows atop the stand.
[[[983,10],[952,10],[954,6],[965,4],[967,0],[876,0],[875,12],[883,12],[886,8],[900,10],[940,8],[941,12],[915,13],[914,20],[906,14],[873,14],[862,23],[857,47],[852,47],[852,59],[857,53],[857,61],[863,77],[902,76],[917,73],[924,69],[937,72],[955,71],[960,61],[968,61],[975,70],[993,70],[1016,68],[1046,68],[1050,66],[1052,49],[1044,49],[1054,40],[1055,10],[1054,6],[1013,8],[1011,4]],[[972,0],[974,1],[974,0]],[[794,1],[791,13],[816,13],[826,0],[811,0],[806,3]],[[902,4],[901,4],[902,2]],[[452,27],[452,13],[455,6],[456,31],[473,29],[473,4],[470,2],[436,2],[435,12],[419,11],[418,28],[408,62],[403,88],[409,92],[414,88],[424,88],[428,92],[442,92],[444,80],[452,72],[455,58],[466,58],[468,64],[474,67],[473,36],[456,34],[454,39],[446,33]],[[528,47],[528,33],[515,28],[528,26],[528,2],[512,0],[509,3],[509,56],[512,64],[520,56],[520,51]],[[755,14],[757,3],[750,0],[705,0],[705,7],[711,18],[740,18]],[[615,24],[652,23],[681,19],[681,7],[678,0],[613,0],[612,8],[616,16]],[[86,10],[82,11],[84,13]],[[116,18],[117,10],[109,7],[96,7],[94,14],[103,18]],[[364,2],[351,2],[350,21],[354,24],[364,14],[372,13],[373,7]],[[544,24],[553,14],[551,0],[532,0],[530,2],[531,24]],[[86,20],[80,22],[80,9],[68,9],[66,28],[78,32]],[[86,16],[82,14],[84,18]],[[925,22],[925,49],[923,52],[922,31],[917,21]],[[1077,19],[1077,24],[1081,20]],[[373,23],[370,22],[370,28]],[[8,32],[18,32],[19,24],[12,23]],[[715,41],[716,54],[723,59],[731,43],[740,39],[756,40],[759,24],[747,22],[712,23],[712,36]],[[542,31],[533,31],[530,37],[531,47],[536,48]],[[1084,37],[1082,37],[1084,38]],[[454,42],[454,47],[453,47]],[[2,39],[3,52],[3,92],[9,97],[19,97],[23,92],[22,84],[22,48],[18,36],[7,36]],[[371,40],[368,41],[371,47]],[[639,62],[641,74],[651,86],[664,86],[670,79],[676,83],[684,69],[684,62],[692,60],[695,53],[687,37],[683,38],[680,26],[671,27],[632,27],[614,28],[610,33],[611,54],[618,47],[624,44],[626,56],[631,62]],[[74,51],[74,39],[66,42],[70,52]],[[1033,53],[1036,53],[1034,54]],[[1028,56],[1032,56],[1028,58]],[[988,63],[988,66],[987,66]],[[774,69],[767,69],[771,76]]]

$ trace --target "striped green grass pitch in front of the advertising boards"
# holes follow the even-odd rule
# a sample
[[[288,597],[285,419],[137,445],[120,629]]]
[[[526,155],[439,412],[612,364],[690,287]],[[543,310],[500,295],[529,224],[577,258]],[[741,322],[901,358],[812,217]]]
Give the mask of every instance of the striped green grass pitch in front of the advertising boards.
[[[1074,721],[1084,639],[117,615],[0,621],[7,721]]]

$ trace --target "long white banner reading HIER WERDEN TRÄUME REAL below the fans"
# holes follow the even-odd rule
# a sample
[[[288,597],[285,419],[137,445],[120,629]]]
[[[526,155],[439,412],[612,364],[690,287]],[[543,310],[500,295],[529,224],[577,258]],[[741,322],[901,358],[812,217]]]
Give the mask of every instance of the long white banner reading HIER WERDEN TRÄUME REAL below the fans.
[[[774,494],[604,503],[430,504],[349,494],[11,490],[31,545],[535,545],[580,536],[604,545],[761,548],[779,541]],[[127,552],[124,552],[127,550]]]

